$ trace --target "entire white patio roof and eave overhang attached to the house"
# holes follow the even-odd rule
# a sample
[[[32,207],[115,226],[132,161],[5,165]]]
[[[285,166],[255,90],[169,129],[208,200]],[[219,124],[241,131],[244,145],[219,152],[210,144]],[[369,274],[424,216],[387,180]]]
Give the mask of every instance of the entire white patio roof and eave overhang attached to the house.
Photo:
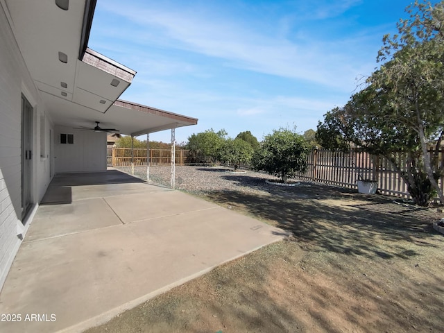
[[[119,100],[136,71],[87,48],[96,0],[0,3],[6,3],[26,67],[55,125],[93,128],[100,121],[102,128],[143,135],[197,123]]]

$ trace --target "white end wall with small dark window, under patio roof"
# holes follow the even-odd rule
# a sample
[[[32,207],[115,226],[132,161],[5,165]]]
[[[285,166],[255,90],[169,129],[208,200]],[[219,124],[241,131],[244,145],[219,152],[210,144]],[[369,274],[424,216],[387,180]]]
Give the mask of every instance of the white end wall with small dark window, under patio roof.
[[[56,173],[106,171],[106,133],[56,126]],[[62,144],[60,134],[74,135],[74,144]]]

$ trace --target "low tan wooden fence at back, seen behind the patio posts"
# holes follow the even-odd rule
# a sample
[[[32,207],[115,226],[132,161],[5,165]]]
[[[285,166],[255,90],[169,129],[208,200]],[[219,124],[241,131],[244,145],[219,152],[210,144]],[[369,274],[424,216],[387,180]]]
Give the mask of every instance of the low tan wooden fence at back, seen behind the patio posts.
[[[150,160],[153,167],[162,165],[171,165],[171,149],[150,149]],[[111,154],[111,155],[110,155]],[[130,167],[131,165],[131,148],[108,148],[108,165],[112,167]],[[134,149],[134,165],[146,165],[146,149]],[[187,163],[188,151],[177,149],[175,162],[178,165]]]

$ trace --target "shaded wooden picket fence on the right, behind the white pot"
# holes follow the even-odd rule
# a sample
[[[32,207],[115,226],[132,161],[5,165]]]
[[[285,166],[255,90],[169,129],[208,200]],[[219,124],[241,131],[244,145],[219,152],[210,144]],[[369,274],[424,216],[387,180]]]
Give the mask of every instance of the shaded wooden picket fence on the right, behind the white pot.
[[[432,151],[429,151],[432,155]],[[401,153],[393,155],[400,161],[403,170],[407,167],[406,157]],[[438,160],[444,164],[444,150],[439,151]],[[359,177],[359,176],[360,177]],[[350,152],[311,151],[307,156],[307,170],[297,174],[298,178],[313,180],[341,187],[357,187],[357,180],[375,180],[382,194],[409,197],[407,185],[393,164],[382,156],[370,155],[359,149]],[[438,180],[441,190],[444,176]]]

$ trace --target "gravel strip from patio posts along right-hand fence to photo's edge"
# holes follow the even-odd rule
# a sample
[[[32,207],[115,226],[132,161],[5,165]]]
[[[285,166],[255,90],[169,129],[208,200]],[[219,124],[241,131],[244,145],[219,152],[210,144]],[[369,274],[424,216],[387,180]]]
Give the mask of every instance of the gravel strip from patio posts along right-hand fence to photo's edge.
[[[131,173],[130,167],[115,168],[120,171]],[[146,180],[146,167],[135,167],[135,175]],[[151,167],[150,180],[157,185],[171,187],[171,167]],[[244,194],[254,194],[260,196],[282,196],[298,198],[358,198],[366,197],[365,194],[358,194],[357,189],[326,185],[309,180],[289,180],[297,182],[298,186],[283,187],[266,183],[266,180],[278,180],[278,178],[266,173],[242,170],[233,172],[228,167],[195,167],[176,166],[176,189],[194,194],[196,196],[210,197],[212,194],[222,192],[228,193],[236,191]],[[322,194],[320,194],[322,193]],[[388,200],[393,205],[402,205],[412,212],[428,211],[427,207],[413,205],[408,198],[386,196],[379,194],[371,196],[374,200]],[[395,206],[393,206],[395,207]],[[429,208],[438,208],[442,212],[442,205],[432,205]],[[427,213],[428,214],[428,213]]]

